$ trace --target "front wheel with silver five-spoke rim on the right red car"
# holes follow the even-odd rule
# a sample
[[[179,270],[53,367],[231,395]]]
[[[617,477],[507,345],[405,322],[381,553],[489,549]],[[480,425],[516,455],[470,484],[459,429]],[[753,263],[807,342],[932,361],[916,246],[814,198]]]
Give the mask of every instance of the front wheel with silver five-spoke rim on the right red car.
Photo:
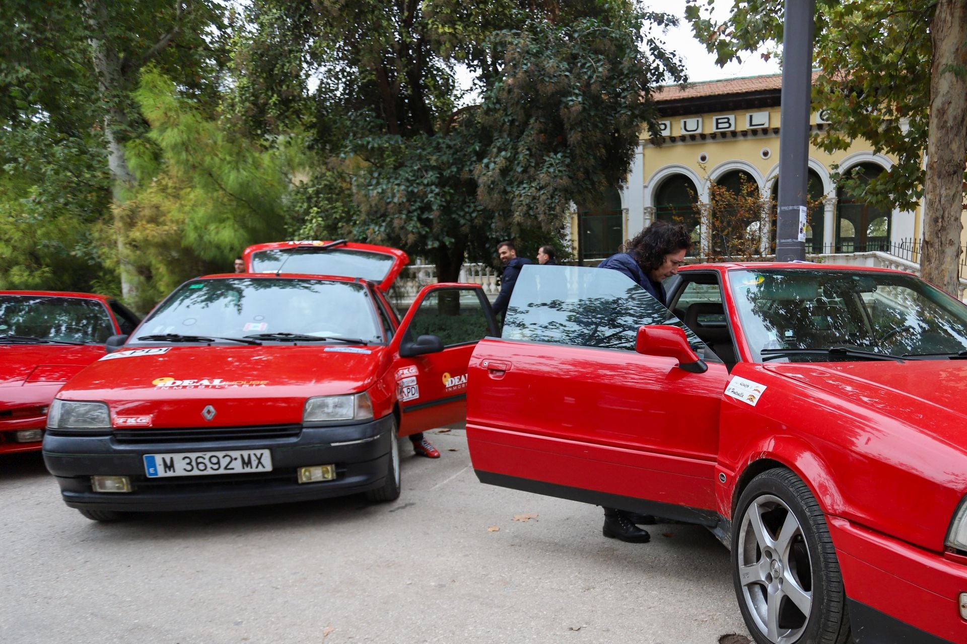
[[[829,526],[788,469],[759,474],[732,521],[732,580],[759,644],[843,644],[850,625]]]

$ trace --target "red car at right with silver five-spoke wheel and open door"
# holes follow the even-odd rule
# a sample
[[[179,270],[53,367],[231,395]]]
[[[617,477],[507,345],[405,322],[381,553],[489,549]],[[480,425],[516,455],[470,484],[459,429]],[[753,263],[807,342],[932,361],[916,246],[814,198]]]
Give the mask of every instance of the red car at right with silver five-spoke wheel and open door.
[[[967,642],[967,306],[898,271],[525,266],[481,481],[708,527],[761,644]]]

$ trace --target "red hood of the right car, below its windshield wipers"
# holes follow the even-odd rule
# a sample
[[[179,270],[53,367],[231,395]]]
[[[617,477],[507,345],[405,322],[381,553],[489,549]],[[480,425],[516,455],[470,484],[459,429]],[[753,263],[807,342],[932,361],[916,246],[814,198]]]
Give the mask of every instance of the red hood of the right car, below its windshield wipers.
[[[784,363],[769,371],[884,414],[967,453],[967,361]]]

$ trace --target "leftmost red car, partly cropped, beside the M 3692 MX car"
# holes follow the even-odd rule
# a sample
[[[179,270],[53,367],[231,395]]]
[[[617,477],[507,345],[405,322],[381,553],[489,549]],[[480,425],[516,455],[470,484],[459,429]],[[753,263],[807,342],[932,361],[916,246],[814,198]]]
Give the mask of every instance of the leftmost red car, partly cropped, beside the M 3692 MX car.
[[[103,295],[0,291],[0,454],[41,449],[57,390],[138,322]]]

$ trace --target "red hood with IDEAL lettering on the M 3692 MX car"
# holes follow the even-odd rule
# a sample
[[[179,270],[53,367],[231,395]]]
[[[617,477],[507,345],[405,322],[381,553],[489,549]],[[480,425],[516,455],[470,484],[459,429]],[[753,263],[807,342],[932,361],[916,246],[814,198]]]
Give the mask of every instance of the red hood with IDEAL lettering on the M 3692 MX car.
[[[248,426],[302,421],[306,399],[365,390],[385,348],[161,347],[109,353],[58,394],[104,401],[115,426]],[[217,413],[199,415],[211,404]],[[148,418],[117,422],[117,416]]]

